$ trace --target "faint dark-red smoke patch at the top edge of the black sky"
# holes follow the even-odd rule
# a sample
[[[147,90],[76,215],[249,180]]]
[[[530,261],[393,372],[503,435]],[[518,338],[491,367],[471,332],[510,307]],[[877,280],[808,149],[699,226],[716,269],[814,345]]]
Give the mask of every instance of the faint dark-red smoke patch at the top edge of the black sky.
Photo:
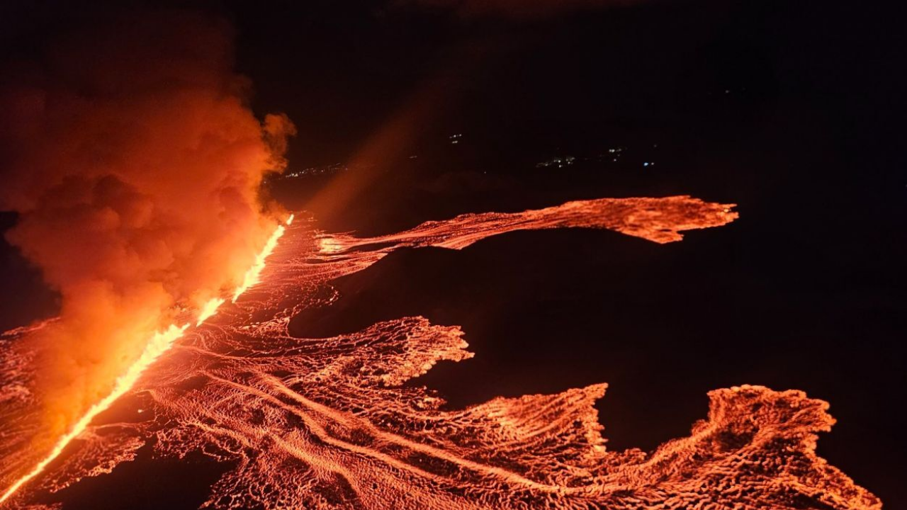
[[[635,0],[397,0],[396,3],[452,9],[463,17],[532,21],[576,11],[627,5],[635,3]]]

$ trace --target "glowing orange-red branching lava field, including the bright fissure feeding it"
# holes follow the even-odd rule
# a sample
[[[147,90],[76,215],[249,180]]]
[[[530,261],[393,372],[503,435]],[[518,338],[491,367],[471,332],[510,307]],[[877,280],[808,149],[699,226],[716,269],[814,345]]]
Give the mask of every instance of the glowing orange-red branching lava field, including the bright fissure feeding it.
[[[34,359],[15,348],[40,325],[9,331],[0,339],[0,507],[64,508],[42,502],[151,444],[161,458],[199,453],[229,466],[202,505],[217,509],[881,508],[815,455],[817,433],[834,419],[800,391],[717,389],[689,436],[614,452],[592,407],[604,384],[465,409],[404,386],[437,361],[472,357],[456,326],[407,317],[335,338],[288,333],[300,310],[331,306],[331,280],[399,248],[461,250],[512,230],[577,227],[666,243],[734,221],[732,207],[686,196],[572,201],[376,238],[299,218],[278,228],[231,300],[152,341],[51,455],[30,447]]]

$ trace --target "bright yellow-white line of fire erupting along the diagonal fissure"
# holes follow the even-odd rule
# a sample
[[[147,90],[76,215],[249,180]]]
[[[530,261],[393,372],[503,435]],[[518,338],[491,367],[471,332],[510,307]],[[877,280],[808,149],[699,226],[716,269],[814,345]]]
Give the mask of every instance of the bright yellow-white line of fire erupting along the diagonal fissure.
[[[289,225],[293,221],[293,215],[290,215],[286,224]],[[268,259],[268,255],[274,251],[274,248],[277,246],[280,236],[283,235],[284,228],[283,225],[279,225],[277,230],[274,230],[274,233],[271,234],[268,243],[265,244],[265,248],[258,253],[258,257],[255,260],[255,265],[246,273],[246,278],[243,280],[243,284],[239,289],[236,289],[236,292],[233,294],[233,302],[236,302],[236,299],[249,289],[249,287],[258,283],[258,278],[261,275],[261,271],[265,269],[265,260]],[[225,299],[215,298],[210,299],[204,306],[199,310],[199,318],[196,321],[196,326],[200,326],[206,319],[210,319],[214,314],[218,312],[220,305],[225,302]],[[158,359],[161,355],[171,347],[173,347],[174,342],[182,337],[183,332],[186,329],[189,329],[190,324],[186,323],[182,326],[177,326],[171,324],[169,328],[159,331],[154,334],[151,340],[148,342],[148,345],[145,346],[144,351],[142,351],[141,356],[135,361],[135,363],[126,370],[119,378],[116,379],[116,382],[113,385],[113,389],[107,397],[104,397],[101,401],[94,404],[88,409],[84,416],[79,419],[66,435],[60,437],[57,440],[54,448],[51,452],[44,457],[34,468],[29,471],[27,474],[15,481],[13,485],[10,485],[6,492],[3,495],[0,495],[0,505],[5,503],[10,496],[14,495],[22,485],[28,483],[32,478],[38,476],[44,468],[47,467],[57,456],[60,456],[63,453],[63,449],[68,446],[73,439],[78,437],[84,432],[84,430],[92,423],[92,420],[101,414],[103,411],[107,410],[112,404],[120,397],[125,395],[132,386],[135,385],[135,382],[139,380],[141,374]]]

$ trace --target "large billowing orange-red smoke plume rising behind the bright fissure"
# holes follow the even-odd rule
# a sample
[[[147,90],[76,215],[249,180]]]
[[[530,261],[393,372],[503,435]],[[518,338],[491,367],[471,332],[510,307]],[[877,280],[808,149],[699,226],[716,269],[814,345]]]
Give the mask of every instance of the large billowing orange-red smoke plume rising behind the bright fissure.
[[[117,15],[5,72],[7,239],[61,296],[31,340],[49,439],[180,310],[235,287],[274,229],[259,187],[294,128],[249,110],[231,39],[203,15]]]

